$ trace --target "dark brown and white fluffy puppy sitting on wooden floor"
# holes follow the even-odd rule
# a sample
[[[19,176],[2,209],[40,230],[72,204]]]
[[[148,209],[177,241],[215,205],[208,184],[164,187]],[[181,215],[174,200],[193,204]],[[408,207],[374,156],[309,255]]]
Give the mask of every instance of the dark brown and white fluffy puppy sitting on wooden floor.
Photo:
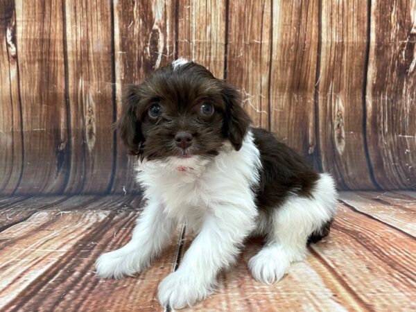
[[[131,85],[117,125],[137,156],[147,205],[131,241],[98,258],[99,277],[141,272],[186,222],[196,239],[158,288],[160,304],[181,309],[214,290],[248,236],[265,237],[248,266],[271,284],[304,259],[307,243],[328,234],[332,178],[270,132],[250,128],[239,92],[205,67],[179,59]]]

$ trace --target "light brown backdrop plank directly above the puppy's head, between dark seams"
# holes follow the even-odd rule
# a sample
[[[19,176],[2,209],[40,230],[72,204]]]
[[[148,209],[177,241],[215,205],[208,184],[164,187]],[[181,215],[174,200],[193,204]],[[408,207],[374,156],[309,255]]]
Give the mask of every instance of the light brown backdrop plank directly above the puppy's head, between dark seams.
[[[178,1],[178,57],[207,67],[224,78],[226,1]]]

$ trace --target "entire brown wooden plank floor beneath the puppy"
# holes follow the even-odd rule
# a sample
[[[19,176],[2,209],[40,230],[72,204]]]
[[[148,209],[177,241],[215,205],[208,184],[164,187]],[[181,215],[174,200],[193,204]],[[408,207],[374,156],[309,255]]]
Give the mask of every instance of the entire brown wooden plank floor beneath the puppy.
[[[331,234],[277,284],[250,276],[247,261],[261,248],[250,240],[193,309],[415,311],[416,192],[343,192],[339,206]],[[163,311],[157,284],[192,240],[181,228],[137,277],[94,275],[98,255],[130,239],[141,207],[139,196],[0,198],[0,311]]]

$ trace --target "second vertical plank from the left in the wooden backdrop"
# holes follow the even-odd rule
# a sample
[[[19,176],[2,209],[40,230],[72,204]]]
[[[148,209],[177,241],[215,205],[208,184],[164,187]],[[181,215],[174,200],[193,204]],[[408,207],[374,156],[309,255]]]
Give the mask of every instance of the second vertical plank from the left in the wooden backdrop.
[[[62,2],[15,4],[24,166],[18,193],[57,193],[65,185],[68,123]]]

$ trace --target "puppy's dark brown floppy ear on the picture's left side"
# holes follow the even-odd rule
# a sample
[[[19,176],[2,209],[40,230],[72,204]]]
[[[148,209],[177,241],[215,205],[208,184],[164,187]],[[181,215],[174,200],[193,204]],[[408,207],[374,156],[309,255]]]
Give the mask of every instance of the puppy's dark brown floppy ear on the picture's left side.
[[[116,128],[119,130],[121,140],[127,146],[129,153],[131,155],[139,155],[140,146],[144,140],[139,116],[137,116],[139,86],[128,85],[123,92],[122,102],[121,116],[116,121]]]

